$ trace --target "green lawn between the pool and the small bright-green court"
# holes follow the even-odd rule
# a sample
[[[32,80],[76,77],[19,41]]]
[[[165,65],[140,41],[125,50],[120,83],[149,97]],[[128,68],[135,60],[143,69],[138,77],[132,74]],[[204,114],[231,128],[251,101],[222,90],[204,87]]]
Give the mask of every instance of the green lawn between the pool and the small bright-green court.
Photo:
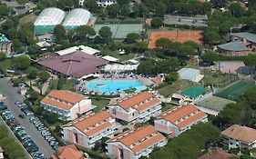
[[[193,83],[189,82],[188,80],[178,80],[173,84],[166,85],[158,89],[159,93],[164,96],[169,96],[170,94],[177,93],[185,88],[188,88]]]

